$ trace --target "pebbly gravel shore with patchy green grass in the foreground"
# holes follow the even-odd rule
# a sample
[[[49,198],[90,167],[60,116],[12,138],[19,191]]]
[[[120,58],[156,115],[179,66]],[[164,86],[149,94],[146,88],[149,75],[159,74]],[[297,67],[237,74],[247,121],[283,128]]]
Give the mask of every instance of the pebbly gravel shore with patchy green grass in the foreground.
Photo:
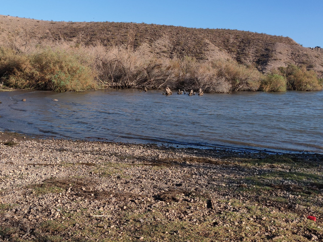
[[[0,241],[323,239],[323,155],[0,143]]]

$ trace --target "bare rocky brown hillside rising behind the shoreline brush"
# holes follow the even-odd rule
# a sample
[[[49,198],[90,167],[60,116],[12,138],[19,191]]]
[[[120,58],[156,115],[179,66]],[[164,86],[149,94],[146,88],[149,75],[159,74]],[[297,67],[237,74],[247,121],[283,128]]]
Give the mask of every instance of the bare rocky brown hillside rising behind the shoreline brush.
[[[226,58],[262,72],[287,63],[305,65],[323,76],[323,49],[305,48],[293,39],[230,29],[197,29],[115,22],[54,22],[0,15],[0,45],[19,41],[65,41],[123,46],[150,57],[200,61]]]

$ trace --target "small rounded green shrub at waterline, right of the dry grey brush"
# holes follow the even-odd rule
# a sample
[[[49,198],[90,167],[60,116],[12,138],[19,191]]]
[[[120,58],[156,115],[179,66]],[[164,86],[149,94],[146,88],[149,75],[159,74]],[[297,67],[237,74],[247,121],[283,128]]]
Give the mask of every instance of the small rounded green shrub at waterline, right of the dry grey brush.
[[[264,92],[286,92],[286,78],[278,74],[269,74],[262,81],[260,90]]]

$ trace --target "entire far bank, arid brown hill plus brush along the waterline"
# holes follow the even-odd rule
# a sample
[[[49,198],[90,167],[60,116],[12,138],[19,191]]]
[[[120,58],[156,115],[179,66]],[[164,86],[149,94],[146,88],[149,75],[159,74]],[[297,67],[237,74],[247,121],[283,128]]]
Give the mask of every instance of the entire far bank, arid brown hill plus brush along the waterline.
[[[0,16],[0,88],[318,91],[323,51],[229,29]]]

